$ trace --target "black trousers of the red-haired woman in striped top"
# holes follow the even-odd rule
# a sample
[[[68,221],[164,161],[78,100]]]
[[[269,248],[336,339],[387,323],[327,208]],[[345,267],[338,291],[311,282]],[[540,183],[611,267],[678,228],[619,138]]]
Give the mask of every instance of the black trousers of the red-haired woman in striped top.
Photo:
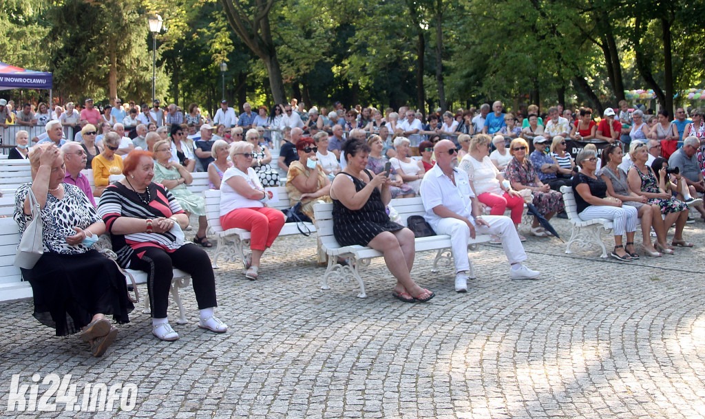
[[[147,291],[149,304],[152,306],[152,318],[166,317],[166,305],[173,278],[172,268],[191,274],[193,292],[196,294],[199,309],[218,306],[211,259],[195,244],[184,244],[172,253],[157,247],[149,247],[142,258],[138,258],[135,252],[135,256],[130,261],[130,268],[147,273]]]

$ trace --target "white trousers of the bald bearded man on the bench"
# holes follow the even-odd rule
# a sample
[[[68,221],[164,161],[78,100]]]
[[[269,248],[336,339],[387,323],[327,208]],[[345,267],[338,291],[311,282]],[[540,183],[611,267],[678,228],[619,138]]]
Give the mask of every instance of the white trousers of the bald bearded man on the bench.
[[[509,263],[526,261],[527,254],[511,218],[505,215],[483,215],[482,219],[489,224],[489,227],[486,225],[475,226],[476,234],[495,234],[499,236]],[[467,227],[467,224],[458,220],[458,218],[443,218],[434,230],[436,230],[437,234],[450,235],[455,272],[470,270],[470,262],[467,260],[467,242],[470,240],[470,228]]]

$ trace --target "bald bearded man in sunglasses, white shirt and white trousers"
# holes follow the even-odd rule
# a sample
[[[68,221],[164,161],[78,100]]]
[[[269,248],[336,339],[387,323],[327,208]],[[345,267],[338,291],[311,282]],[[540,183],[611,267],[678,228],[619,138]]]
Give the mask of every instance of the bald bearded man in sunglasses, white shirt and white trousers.
[[[458,149],[448,139],[434,147],[436,165],[424,175],[421,197],[424,218],[437,234],[450,235],[455,261],[455,291],[467,292],[470,262],[467,242],[477,233],[496,234],[511,265],[509,276],[515,280],[537,278],[540,273],[522,264],[527,259],[514,223],[505,215],[484,215],[470,188],[467,173],[458,170]]]

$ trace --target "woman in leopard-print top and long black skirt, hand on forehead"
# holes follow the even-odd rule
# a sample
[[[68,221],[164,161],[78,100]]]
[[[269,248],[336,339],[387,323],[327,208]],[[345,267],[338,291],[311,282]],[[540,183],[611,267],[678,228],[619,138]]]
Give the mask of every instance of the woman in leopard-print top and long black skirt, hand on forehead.
[[[118,332],[106,316],[127,323],[134,308],[125,277],[113,261],[92,249],[105,224],[81,189],[63,183],[61,151],[54,144],[36,146],[30,164],[32,182],[16,191],[14,219],[22,234],[32,220],[31,189],[40,207],[44,244],[35,266],[22,269],[32,285],[33,315],[54,328],[56,336],[80,331],[92,355],[102,356]]]

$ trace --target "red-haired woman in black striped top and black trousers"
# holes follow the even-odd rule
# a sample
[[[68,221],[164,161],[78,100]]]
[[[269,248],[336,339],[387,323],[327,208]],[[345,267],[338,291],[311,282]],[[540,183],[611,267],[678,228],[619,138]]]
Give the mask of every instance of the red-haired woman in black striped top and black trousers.
[[[217,303],[211,260],[195,244],[184,242],[181,229],[188,225],[188,217],[171,192],[152,182],[152,153],[131,151],[124,160],[123,174],[123,180],[103,192],[98,213],[112,234],[118,263],[147,273],[152,334],[161,340],[178,339],[166,317],[172,268],[191,274],[200,309],[198,327],[226,332],[228,326],[213,312]]]

